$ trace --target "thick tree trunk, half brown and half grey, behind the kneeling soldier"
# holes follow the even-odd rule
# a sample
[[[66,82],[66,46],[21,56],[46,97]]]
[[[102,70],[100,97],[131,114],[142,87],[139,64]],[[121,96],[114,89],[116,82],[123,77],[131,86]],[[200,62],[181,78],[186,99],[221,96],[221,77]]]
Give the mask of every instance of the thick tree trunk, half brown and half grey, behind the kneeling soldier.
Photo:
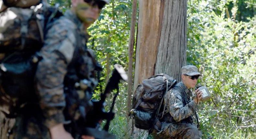
[[[140,0],[134,90],[142,80],[166,73],[180,80],[186,64],[187,0]],[[134,128],[133,138],[145,138]]]

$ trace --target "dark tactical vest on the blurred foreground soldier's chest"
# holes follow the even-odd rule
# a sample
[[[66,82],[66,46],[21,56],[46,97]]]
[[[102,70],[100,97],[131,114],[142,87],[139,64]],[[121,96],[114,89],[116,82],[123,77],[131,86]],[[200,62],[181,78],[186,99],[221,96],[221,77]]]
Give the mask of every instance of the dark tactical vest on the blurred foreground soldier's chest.
[[[86,46],[87,36],[78,27],[75,37],[77,41],[73,58],[64,77],[66,101],[64,116],[68,121],[85,118],[86,113],[92,108],[90,99],[94,88],[98,85],[96,71],[102,70],[93,51]]]

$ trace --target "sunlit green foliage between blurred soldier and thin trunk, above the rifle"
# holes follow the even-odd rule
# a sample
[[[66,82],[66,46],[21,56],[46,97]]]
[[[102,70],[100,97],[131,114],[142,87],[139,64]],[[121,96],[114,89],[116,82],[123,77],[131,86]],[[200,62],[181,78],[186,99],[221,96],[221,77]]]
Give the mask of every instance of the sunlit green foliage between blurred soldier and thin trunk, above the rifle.
[[[120,63],[125,67],[128,63],[131,9],[131,1],[116,0],[114,7],[107,5],[98,21],[88,29],[91,34],[88,46],[96,51],[103,68],[107,53],[111,54],[111,65]]]

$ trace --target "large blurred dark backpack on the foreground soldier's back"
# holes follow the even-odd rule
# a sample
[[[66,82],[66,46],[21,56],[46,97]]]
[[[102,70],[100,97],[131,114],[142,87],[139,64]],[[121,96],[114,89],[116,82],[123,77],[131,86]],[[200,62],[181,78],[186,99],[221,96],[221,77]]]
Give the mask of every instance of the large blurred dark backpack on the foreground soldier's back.
[[[62,16],[45,0],[0,0],[0,111],[16,117],[35,100],[34,76],[46,25]]]

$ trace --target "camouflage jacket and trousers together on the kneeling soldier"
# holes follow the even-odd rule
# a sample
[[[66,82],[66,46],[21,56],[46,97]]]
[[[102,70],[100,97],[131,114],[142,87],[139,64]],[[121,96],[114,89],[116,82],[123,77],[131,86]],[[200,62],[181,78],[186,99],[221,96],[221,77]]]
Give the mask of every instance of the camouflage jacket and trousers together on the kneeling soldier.
[[[202,133],[193,124],[192,114],[196,103],[190,99],[192,93],[183,82],[176,84],[164,97],[167,113],[161,120],[161,133],[152,135],[161,139],[200,139]]]

